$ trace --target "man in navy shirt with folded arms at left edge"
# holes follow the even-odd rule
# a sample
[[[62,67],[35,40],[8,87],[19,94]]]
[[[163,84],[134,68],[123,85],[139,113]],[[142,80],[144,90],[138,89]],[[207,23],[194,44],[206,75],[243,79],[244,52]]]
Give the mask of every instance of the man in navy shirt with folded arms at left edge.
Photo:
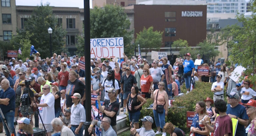
[[[3,112],[3,115],[6,119],[8,128],[3,123],[4,130],[6,133],[6,136],[11,136],[12,131],[14,131],[14,135],[16,136],[15,130],[14,130],[14,113],[15,113],[15,92],[10,87],[10,82],[7,79],[3,79],[1,82],[1,88],[0,90],[0,108]],[[1,116],[2,122],[4,122],[3,117]]]

